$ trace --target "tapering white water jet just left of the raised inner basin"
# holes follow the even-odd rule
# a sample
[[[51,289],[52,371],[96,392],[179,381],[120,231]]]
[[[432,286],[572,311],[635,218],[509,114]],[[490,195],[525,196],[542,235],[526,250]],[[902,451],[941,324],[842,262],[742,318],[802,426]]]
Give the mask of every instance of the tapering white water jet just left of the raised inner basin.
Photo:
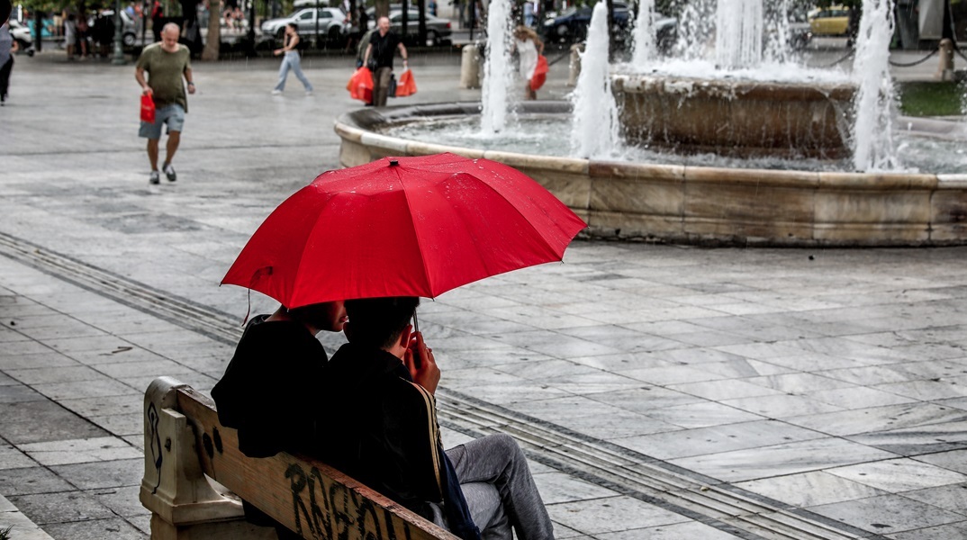
[[[581,74],[571,95],[571,151],[574,156],[613,155],[619,149],[618,105],[608,73],[607,7],[598,2],[591,14]]]

